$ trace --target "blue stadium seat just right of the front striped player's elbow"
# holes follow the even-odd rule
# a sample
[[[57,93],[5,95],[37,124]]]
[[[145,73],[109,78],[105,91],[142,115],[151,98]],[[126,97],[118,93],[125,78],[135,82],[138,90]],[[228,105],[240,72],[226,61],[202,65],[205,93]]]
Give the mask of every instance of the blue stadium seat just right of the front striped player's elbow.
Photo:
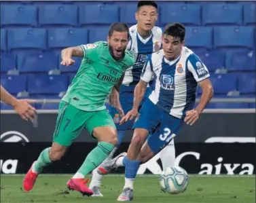
[[[227,74],[211,74],[210,80],[213,84],[215,94],[227,94],[230,91],[237,90],[237,75],[232,73]],[[202,89],[198,88],[198,93],[202,93]]]

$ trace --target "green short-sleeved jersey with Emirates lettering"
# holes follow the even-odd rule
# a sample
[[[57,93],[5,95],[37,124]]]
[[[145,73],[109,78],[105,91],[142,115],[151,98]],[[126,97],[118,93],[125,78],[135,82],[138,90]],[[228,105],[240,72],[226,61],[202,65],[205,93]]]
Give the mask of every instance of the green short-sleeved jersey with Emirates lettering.
[[[105,109],[105,99],[126,69],[134,63],[132,53],[120,62],[112,58],[106,41],[81,45],[84,58],[67,94],[62,98],[67,103],[84,111]]]

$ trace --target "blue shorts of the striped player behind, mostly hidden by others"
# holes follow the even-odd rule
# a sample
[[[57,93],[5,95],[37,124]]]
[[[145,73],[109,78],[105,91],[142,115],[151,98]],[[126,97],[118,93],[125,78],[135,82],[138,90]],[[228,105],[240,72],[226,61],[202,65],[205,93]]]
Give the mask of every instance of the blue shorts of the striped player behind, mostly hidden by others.
[[[121,86],[120,103],[124,110],[124,114],[126,114],[128,111],[132,110],[133,98],[134,98],[134,88],[135,88],[135,86],[124,86],[124,85]],[[144,96],[143,100],[141,101],[141,105],[140,105],[139,109],[141,108],[141,106],[143,105],[143,103],[145,102],[145,100],[147,99],[147,97],[149,96],[150,93],[151,93],[151,88],[147,88],[147,90],[145,92],[145,96]],[[117,130],[132,130],[134,120],[129,120],[128,122],[125,122],[124,124],[120,125],[119,122],[120,122],[121,117],[120,117],[118,111],[115,109],[115,107],[109,106],[108,110],[109,110],[110,115],[113,117],[113,121],[115,123],[115,127],[117,128]]]

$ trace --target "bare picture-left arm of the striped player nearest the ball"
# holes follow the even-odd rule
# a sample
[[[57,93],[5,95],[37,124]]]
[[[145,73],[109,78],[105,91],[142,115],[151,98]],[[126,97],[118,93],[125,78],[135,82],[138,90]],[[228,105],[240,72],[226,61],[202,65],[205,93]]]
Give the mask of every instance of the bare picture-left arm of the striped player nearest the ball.
[[[134,90],[134,100],[133,100],[133,107],[132,110],[129,111],[124,117],[122,117],[120,124],[124,124],[124,122],[127,122],[128,119],[132,120],[138,115],[139,111],[139,105],[141,103],[141,100],[143,99],[143,96],[146,92],[148,82],[143,81],[140,79],[139,83],[136,85]]]

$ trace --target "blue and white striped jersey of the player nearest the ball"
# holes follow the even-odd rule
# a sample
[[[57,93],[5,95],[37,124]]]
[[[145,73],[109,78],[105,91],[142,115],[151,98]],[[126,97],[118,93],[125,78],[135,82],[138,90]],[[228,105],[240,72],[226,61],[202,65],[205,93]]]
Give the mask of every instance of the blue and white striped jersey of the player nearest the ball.
[[[141,79],[149,82],[152,76],[149,99],[166,113],[183,119],[194,107],[198,82],[210,75],[200,58],[183,47],[181,56],[172,61],[164,58],[164,50],[149,55]]]

